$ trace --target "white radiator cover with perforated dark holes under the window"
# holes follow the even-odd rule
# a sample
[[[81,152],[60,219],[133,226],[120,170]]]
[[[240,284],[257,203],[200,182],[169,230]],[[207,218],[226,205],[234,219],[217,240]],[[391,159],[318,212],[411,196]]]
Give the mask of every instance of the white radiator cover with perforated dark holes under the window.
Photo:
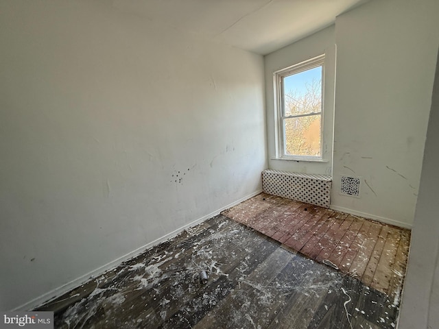
[[[332,178],[329,175],[289,173],[266,169],[262,171],[262,188],[265,193],[287,197],[307,204],[329,208]]]

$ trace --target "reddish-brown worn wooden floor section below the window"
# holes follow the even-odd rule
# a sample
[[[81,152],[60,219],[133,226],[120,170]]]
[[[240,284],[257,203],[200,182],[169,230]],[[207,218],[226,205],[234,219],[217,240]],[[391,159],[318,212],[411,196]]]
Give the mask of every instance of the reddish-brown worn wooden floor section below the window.
[[[401,294],[410,230],[265,193],[222,213],[390,297]]]

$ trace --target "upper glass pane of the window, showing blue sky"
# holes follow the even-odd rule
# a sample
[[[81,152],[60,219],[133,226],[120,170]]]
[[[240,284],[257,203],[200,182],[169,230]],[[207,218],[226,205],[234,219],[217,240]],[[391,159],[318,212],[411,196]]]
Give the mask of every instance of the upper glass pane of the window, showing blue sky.
[[[284,115],[320,112],[322,66],[283,77]]]

